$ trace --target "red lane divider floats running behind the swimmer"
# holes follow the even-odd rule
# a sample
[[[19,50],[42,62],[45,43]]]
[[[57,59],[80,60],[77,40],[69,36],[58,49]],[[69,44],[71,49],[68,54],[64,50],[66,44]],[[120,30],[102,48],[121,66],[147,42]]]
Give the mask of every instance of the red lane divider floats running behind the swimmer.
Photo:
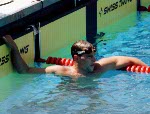
[[[68,58],[57,58],[57,57],[48,57],[45,59],[39,59],[37,62],[46,62],[46,64],[56,64],[62,66],[73,66],[73,60]],[[142,65],[129,65],[125,68],[128,72],[137,72],[137,73],[146,73],[150,74],[149,66]]]

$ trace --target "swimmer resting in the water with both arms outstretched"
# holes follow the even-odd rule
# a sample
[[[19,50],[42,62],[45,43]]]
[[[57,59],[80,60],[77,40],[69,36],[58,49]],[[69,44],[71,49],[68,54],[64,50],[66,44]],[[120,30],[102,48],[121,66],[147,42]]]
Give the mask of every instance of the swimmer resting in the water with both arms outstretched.
[[[85,77],[100,75],[109,70],[123,70],[129,65],[147,66],[141,60],[127,56],[112,56],[95,60],[96,48],[89,42],[79,40],[71,47],[73,66],[52,65],[46,68],[29,67],[22,59],[16,43],[10,35],[3,37],[6,45],[11,48],[11,60],[18,73],[54,73],[61,76]]]

